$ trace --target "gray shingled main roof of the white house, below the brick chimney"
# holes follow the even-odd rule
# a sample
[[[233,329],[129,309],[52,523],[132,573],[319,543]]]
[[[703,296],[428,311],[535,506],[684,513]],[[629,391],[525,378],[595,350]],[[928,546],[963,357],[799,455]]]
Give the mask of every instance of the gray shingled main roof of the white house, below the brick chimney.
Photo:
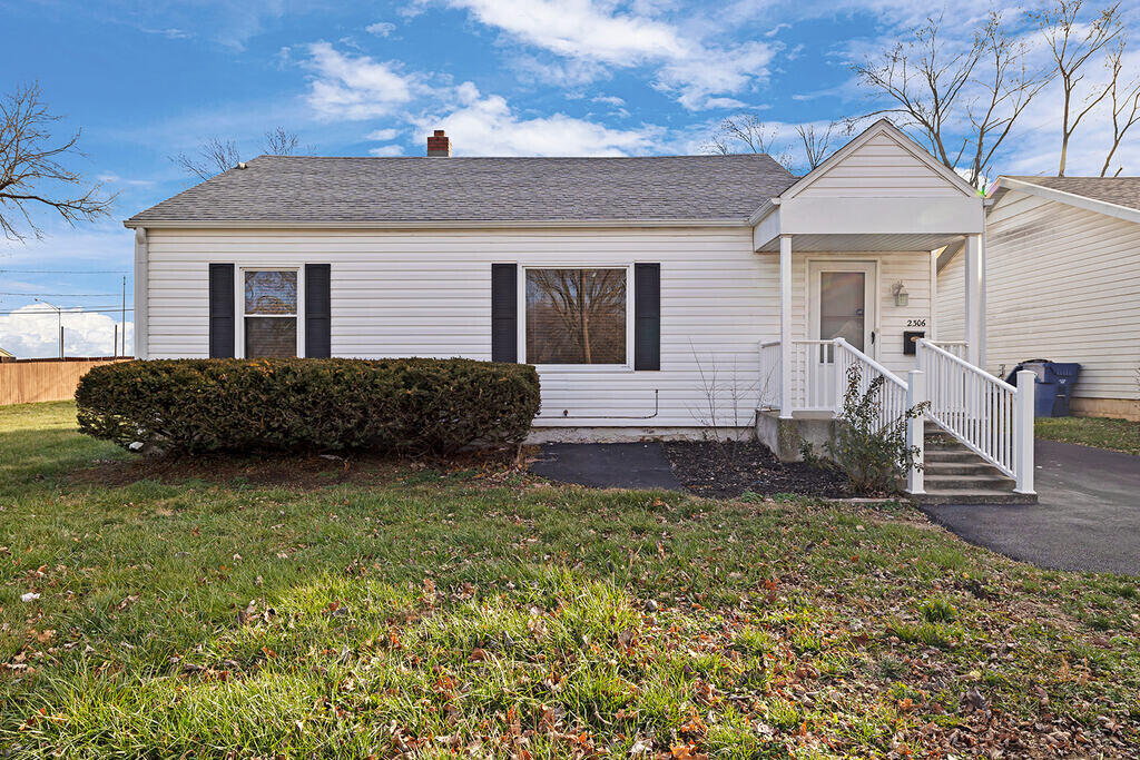
[[[260,156],[135,214],[150,221],[743,221],[796,178],[767,155]]]

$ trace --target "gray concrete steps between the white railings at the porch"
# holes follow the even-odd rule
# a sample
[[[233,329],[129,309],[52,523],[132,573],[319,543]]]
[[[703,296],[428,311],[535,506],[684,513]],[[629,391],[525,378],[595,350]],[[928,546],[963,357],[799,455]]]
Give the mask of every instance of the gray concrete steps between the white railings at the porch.
[[[926,493],[919,504],[1036,504],[1033,493],[1015,493],[1015,482],[934,423],[926,424]]]

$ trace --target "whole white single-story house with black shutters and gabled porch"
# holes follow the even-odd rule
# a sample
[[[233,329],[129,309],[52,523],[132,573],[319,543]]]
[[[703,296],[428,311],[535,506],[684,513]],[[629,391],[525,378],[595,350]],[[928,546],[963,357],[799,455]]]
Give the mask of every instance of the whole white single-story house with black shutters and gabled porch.
[[[261,156],[127,220],[139,357],[523,361],[537,440],[715,426],[777,449],[833,416],[852,362],[888,379],[893,409],[923,395],[915,350],[950,357],[944,384],[988,383],[983,199],[887,121],[803,178],[766,155],[461,158],[442,132],[429,148]],[[935,337],[934,252],[961,240],[964,360],[918,342]],[[942,411],[1032,492],[1012,417]]]

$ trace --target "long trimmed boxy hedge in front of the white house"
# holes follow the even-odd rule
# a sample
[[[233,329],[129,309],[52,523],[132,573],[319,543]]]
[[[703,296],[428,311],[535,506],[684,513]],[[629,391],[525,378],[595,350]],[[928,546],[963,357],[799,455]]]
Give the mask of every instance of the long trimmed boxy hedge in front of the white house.
[[[521,442],[538,374],[470,359],[162,359],[96,367],[75,401],[81,432],[122,447],[448,455]]]

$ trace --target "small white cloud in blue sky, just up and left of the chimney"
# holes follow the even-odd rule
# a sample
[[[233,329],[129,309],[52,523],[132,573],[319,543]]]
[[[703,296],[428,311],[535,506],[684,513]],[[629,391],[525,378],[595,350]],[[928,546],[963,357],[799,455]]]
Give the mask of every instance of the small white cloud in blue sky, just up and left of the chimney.
[[[304,64],[314,72],[309,105],[326,119],[372,119],[412,100],[413,77],[391,63],[340,52],[328,42],[309,46]]]

